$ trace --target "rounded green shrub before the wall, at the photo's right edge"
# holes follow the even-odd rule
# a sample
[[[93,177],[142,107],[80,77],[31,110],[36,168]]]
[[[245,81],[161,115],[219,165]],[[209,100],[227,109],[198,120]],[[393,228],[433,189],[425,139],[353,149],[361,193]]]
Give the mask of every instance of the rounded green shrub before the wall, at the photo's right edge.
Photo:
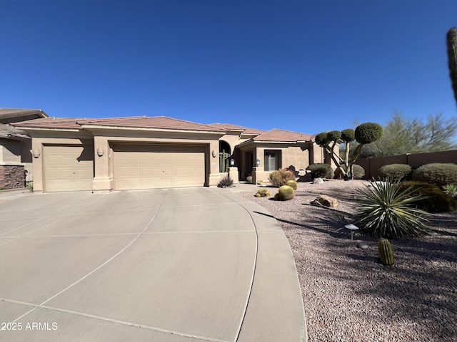
[[[427,182],[438,187],[449,183],[457,183],[457,165],[451,162],[433,162],[422,165],[413,171],[413,180]]]

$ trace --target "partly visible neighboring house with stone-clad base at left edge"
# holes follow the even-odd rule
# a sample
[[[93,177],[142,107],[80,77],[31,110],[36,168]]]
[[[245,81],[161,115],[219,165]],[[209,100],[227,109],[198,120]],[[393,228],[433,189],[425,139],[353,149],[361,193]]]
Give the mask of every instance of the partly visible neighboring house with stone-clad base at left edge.
[[[32,175],[31,138],[11,123],[47,117],[39,109],[0,108],[0,188],[24,187]]]

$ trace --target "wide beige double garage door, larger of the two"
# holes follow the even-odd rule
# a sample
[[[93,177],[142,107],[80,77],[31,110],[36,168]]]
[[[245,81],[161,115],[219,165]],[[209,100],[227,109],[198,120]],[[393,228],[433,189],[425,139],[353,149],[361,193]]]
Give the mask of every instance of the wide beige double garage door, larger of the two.
[[[114,190],[201,187],[205,147],[114,145]]]

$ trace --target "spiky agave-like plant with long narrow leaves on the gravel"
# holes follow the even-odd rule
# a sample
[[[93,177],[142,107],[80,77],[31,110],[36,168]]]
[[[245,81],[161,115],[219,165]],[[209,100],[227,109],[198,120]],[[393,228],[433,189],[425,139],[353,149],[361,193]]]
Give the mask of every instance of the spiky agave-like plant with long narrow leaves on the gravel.
[[[413,187],[401,190],[400,180],[392,178],[385,182],[372,181],[360,190],[361,197],[356,199],[356,224],[362,231],[386,239],[425,234],[427,212],[417,209],[415,202],[426,197],[416,196],[414,191]]]

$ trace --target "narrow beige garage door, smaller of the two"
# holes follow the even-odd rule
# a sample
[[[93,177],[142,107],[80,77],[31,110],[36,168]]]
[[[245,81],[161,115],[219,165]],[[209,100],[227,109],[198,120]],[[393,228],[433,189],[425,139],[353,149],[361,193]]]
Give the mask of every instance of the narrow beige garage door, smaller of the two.
[[[92,190],[94,145],[44,146],[46,192]]]

